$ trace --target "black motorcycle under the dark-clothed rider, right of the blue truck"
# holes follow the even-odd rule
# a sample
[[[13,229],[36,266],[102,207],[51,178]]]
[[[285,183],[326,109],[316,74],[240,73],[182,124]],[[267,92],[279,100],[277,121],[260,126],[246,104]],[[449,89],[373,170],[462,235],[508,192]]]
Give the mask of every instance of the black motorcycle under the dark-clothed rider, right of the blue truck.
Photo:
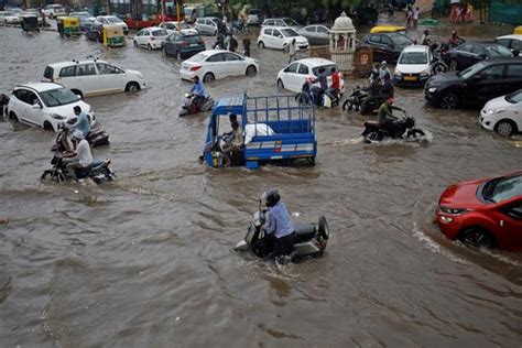
[[[415,119],[403,111],[404,117],[394,122],[392,129],[381,128],[376,121],[365,122],[365,130],[361,135],[365,137],[366,143],[380,142],[384,138],[390,139],[418,139],[424,137],[425,132],[415,128]]]

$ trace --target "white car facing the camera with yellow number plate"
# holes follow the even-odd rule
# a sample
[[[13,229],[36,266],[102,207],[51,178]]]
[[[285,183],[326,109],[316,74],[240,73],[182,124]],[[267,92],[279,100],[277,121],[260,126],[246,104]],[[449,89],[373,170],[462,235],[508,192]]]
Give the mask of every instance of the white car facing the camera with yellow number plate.
[[[402,50],[393,73],[396,86],[424,86],[432,72],[432,50],[428,46],[411,45]]]

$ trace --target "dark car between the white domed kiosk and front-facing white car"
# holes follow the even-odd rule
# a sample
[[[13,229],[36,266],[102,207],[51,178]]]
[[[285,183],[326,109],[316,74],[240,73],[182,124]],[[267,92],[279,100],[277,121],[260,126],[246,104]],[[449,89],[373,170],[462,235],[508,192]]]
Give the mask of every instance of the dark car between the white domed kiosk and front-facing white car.
[[[376,33],[365,37],[365,45],[373,47],[373,62],[395,63],[405,46],[413,40],[401,33]]]

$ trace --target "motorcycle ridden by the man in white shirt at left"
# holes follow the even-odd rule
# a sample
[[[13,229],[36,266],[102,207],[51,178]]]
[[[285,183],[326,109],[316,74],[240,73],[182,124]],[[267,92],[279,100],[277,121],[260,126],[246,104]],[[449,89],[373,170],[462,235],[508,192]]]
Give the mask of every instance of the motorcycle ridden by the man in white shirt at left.
[[[65,181],[79,181],[90,177],[96,184],[101,184],[110,182],[116,177],[115,173],[109,168],[109,163],[110,161],[104,161],[93,168],[78,168],[75,170],[75,173],[70,173],[64,159],[55,153],[51,160],[53,168],[44,171],[40,180],[42,182],[63,183]]]

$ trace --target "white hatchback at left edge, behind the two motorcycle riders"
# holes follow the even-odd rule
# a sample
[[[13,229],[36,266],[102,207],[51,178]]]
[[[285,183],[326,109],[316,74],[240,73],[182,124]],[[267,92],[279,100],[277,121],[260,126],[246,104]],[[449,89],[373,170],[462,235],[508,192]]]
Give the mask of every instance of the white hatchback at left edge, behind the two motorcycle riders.
[[[58,124],[76,118],[74,107],[80,107],[93,119],[93,110],[77,95],[58,84],[36,83],[14,87],[7,115],[13,121],[57,131]]]

